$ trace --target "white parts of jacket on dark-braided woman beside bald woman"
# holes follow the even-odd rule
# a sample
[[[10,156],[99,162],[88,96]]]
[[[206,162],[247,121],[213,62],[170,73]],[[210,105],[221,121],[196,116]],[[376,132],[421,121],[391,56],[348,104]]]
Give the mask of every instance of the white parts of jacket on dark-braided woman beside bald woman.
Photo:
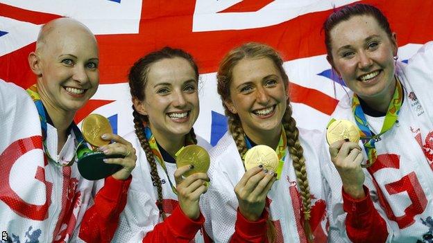
[[[153,186],[150,172],[151,168],[147,162],[146,153],[140,145],[135,132],[126,134],[124,138],[132,143],[137,151],[137,163],[131,173],[133,174],[133,181],[131,181],[128,190],[128,201],[124,211],[120,215],[119,227],[114,234],[112,242],[136,243],[142,242],[146,233],[153,231],[153,227],[162,222],[162,217],[160,217],[160,211],[155,204],[158,199],[158,194],[156,186]],[[204,147],[205,150],[210,150],[210,147],[212,147],[199,136],[197,136],[197,145]],[[167,174],[165,174],[162,166],[158,162],[156,162],[156,165],[162,182],[163,204],[169,208],[171,205],[171,208],[174,209],[174,205],[177,204],[178,201],[178,196],[171,190]],[[176,163],[165,163],[165,166],[173,186],[176,186],[176,181],[174,181]],[[195,242],[203,242],[202,234],[203,232],[198,231]]]

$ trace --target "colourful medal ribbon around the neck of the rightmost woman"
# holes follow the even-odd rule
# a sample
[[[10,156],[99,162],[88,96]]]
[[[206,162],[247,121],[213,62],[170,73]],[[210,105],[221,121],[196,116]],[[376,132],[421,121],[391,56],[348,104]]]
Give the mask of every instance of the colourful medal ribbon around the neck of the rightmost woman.
[[[352,100],[352,110],[353,116],[355,117],[355,123],[359,128],[359,134],[361,136],[362,143],[364,144],[364,150],[368,156],[368,163],[363,167],[369,167],[373,165],[377,158],[377,152],[375,148],[375,138],[387,132],[393,125],[396,123],[398,119],[398,113],[400,112],[400,107],[402,105],[403,91],[402,85],[400,84],[400,80],[397,79],[396,90],[394,91],[393,98],[391,102],[389,102],[389,107],[387,110],[387,115],[385,116],[384,123],[382,125],[382,129],[380,130],[380,134],[374,134],[371,132],[371,129],[368,127],[367,119],[364,115],[364,111],[362,111],[362,107],[359,103],[358,96],[354,93]]]

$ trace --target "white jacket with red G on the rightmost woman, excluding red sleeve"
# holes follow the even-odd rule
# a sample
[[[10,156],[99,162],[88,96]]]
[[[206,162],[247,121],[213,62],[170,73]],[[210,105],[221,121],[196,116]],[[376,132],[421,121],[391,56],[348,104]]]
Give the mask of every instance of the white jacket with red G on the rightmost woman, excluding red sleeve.
[[[399,63],[396,75],[405,92],[398,123],[375,142],[378,159],[371,168],[364,169],[364,185],[387,222],[387,242],[427,242],[423,235],[433,233],[433,42],[425,44],[408,64]],[[332,118],[355,123],[352,94],[339,102]],[[374,122],[372,119],[377,118],[367,118],[369,123]],[[383,123],[384,118],[379,119]],[[328,148],[322,151],[327,153]],[[368,158],[364,150],[363,154],[364,159]],[[322,166],[334,170],[329,160]],[[344,228],[341,180],[331,182],[332,219]],[[378,195],[385,200],[380,202]]]

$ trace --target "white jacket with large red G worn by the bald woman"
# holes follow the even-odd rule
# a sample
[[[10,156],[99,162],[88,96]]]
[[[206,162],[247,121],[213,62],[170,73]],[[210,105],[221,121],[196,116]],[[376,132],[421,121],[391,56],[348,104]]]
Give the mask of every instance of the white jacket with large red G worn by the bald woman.
[[[2,80],[0,120],[0,231],[12,242],[75,242],[94,182],[80,177],[76,163],[62,168],[44,162],[33,100],[24,89]],[[57,130],[48,124],[47,148],[53,159],[71,158],[74,139],[72,132],[58,154]]]

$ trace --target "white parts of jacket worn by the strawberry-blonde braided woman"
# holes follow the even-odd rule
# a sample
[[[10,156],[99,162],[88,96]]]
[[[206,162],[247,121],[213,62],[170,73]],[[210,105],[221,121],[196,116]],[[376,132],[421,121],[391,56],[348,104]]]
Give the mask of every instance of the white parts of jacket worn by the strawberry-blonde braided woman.
[[[311,138],[307,142],[305,138]],[[321,133],[300,129],[300,143],[304,149],[309,190],[312,195],[312,230],[316,242],[326,242],[328,219],[326,215],[325,186],[317,156]],[[235,186],[245,169],[236,143],[227,132],[210,152],[211,165],[208,172],[211,186],[201,199],[205,215],[205,230],[214,242],[228,242],[235,232],[238,201]],[[281,179],[275,181],[268,193],[270,217],[277,229],[276,242],[306,242],[301,225],[302,202],[296,185],[294,167],[287,151]]]

